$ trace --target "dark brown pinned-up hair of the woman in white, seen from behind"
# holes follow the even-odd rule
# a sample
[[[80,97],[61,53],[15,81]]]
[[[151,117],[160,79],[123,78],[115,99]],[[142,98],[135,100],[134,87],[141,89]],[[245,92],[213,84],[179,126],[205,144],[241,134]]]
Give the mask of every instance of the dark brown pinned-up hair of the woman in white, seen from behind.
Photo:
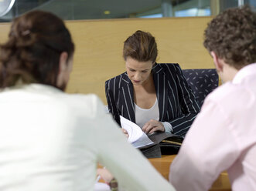
[[[18,80],[56,87],[60,54],[70,59],[73,51],[70,32],[56,15],[32,11],[15,18],[8,42],[0,45],[0,88]]]

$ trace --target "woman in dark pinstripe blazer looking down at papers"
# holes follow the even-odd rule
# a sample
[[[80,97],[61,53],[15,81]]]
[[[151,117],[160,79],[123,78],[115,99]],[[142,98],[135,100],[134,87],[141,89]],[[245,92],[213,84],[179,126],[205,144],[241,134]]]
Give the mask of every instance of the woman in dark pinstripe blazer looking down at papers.
[[[146,133],[172,132],[184,136],[200,111],[178,64],[157,64],[155,38],[137,31],[125,41],[126,72],[105,83],[109,112],[120,115]]]

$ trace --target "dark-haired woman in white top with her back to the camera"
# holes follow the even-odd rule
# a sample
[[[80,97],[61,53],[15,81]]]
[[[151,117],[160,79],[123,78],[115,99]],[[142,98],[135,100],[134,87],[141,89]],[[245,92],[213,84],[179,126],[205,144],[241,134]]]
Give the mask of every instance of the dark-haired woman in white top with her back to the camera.
[[[125,190],[174,190],[96,95],[63,92],[74,45],[60,18],[42,11],[15,18],[0,52],[2,191],[93,190],[97,163]]]

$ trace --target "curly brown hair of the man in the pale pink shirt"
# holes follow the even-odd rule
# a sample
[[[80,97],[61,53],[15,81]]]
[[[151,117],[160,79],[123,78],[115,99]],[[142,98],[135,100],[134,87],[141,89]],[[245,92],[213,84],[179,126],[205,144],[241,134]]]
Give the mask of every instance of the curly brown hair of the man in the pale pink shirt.
[[[235,69],[256,62],[256,13],[249,6],[217,15],[204,31],[203,45]]]

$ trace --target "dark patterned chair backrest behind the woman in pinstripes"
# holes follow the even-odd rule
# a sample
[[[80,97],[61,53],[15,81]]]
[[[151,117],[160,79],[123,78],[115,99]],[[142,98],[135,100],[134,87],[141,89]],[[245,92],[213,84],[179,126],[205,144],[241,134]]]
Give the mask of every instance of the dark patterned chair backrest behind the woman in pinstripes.
[[[206,96],[219,85],[216,69],[183,69],[183,73],[201,107]]]

